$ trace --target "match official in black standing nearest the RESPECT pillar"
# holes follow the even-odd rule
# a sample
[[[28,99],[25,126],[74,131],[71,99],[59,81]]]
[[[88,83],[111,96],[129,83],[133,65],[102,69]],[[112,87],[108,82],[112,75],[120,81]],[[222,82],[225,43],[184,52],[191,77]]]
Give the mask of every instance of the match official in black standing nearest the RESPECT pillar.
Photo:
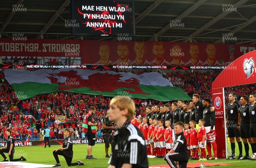
[[[238,148],[239,148],[239,157],[237,159],[243,159],[242,156],[242,151],[243,151],[243,146],[242,142],[240,139],[240,112],[239,112],[239,107],[240,104],[236,102],[236,95],[234,93],[229,94],[228,96],[230,100],[230,104],[227,106],[227,131],[228,131],[228,137],[230,137],[230,143],[231,143],[231,152],[232,155],[227,158],[227,159],[236,159],[235,156],[235,137],[236,137],[236,142],[238,143]]]

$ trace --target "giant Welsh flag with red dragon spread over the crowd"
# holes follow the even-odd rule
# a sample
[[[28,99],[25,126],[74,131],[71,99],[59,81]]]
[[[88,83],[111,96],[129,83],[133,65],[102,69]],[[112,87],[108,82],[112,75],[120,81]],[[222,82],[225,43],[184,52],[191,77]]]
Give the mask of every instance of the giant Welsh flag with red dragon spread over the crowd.
[[[95,71],[83,69],[4,70],[5,78],[19,100],[57,90],[103,96],[130,96],[170,101],[191,100],[180,88],[158,72],[135,75],[131,72]]]

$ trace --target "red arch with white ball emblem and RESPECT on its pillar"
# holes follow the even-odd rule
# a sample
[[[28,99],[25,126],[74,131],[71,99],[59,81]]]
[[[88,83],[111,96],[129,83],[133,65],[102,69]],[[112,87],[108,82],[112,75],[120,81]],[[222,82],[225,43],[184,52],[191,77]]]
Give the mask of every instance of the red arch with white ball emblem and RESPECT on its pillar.
[[[248,52],[228,65],[212,82],[212,104],[216,114],[216,142],[218,157],[227,157],[224,87],[254,84],[256,81],[256,50]],[[239,77],[239,80],[237,78]],[[223,143],[225,142],[225,144]]]

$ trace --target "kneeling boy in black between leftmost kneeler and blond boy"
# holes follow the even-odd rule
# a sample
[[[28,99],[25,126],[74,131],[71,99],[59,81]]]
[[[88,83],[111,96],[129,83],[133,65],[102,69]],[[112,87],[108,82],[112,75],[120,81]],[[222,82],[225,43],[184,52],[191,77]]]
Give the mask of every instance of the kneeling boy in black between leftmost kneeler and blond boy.
[[[55,149],[52,152],[53,156],[57,162],[57,164],[53,167],[61,167],[58,155],[64,156],[68,166],[84,165],[84,163],[81,162],[80,160],[78,160],[76,163],[71,163],[72,159],[73,159],[73,144],[71,142],[71,138],[69,135],[70,135],[70,130],[66,128],[64,130],[63,146],[61,148]]]

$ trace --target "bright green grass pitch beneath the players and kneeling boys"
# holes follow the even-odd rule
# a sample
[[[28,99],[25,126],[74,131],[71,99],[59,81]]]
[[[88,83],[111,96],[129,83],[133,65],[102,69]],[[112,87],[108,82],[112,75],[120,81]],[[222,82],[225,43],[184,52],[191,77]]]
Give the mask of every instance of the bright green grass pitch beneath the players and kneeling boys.
[[[31,162],[31,163],[39,163],[39,164],[47,164],[47,165],[55,165],[55,159],[52,155],[52,151],[56,148],[60,148],[61,145],[52,145],[51,148],[43,148],[39,146],[31,146],[31,147],[15,147],[15,156],[14,158],[19,158],[20,156],[24,156],[27,161],[26,162]],[[230,144],[228,144],[228,147],[230,148]],[[93,156],[96,157],[97,159],[94,160],[88,160],[85,159],[86,156],[86,149],[87,149],[87,144],[86,145],[73,145],[73,151],[74,151],[74,156],[73,156],[73,162],[76,162],[78,159],[84,162],[84,166],[77,166],[79,168],[107,168],[108,167],[108,159],[105,158],[105,144],[100,143],[96,144],[93,147]],[[238,156],[238,145],[236,143],[236,156]],[[250,150],[251,153],[251,150]],[[243,156],[244,156],[244,151],[243,151]],[[0,156],[2,157],[2,156]],[[8,158],[9,159],[9,158]],[[62,167],[67,167],[67,163],[64,159],[63,156],[59,156],[61,166]],[[196,162],[196,161],[191,161],[189,162]],[[235,165],[226,165],[226,166],[221,166],[225,168],[239,168],[239,167],[247,167],[247,168],[253,168],[256,164],[256,161],[249,161],[249,160],[226,160],[226,159],[218,159],[218,160],[210,160],[207,162],[224,162],[224,163],[233,163]],[[167,164],[163,159],[148,159],[148,164],[149,165],[163,165]],[[208,167],[207,167],[208,168]],[[210,168],[210,167],[209,167]],[[218,167],[217,167],[218,168]]]

